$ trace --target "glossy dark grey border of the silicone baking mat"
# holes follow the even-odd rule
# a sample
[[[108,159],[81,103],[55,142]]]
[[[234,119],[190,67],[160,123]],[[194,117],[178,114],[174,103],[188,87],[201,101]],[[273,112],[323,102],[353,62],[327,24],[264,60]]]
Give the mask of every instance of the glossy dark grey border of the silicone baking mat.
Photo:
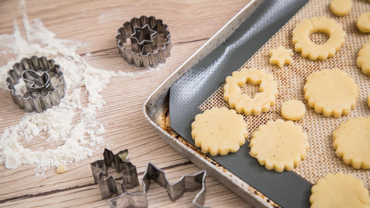
[[[208,97],[253,56],[307,0],[263,1],[242,24],[170,88],[171,128],[194,145],[191,123]],[[248,154],[248,142],[238,152],[211,156],[227,170],[246,181],[282,207],[309,207],[312,184],[295,172],[267,171]]]

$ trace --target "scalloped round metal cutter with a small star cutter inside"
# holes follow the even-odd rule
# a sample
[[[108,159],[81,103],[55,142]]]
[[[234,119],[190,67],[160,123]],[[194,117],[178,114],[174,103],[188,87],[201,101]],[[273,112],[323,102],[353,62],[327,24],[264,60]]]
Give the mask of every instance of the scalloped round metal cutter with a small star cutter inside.
[[[157,36],[162,34],[166,39],[162,48],[157,48]],[[131,50],[126,50],[123,43],[130,37]],[[150,16],[140,16],[132,18],[123,23],[115,36],[118,52],[128,64],[136,67],[157,66],[165,63],[166,57],[170,56],[171,39],[168,26],[163,24],[161,19]]]

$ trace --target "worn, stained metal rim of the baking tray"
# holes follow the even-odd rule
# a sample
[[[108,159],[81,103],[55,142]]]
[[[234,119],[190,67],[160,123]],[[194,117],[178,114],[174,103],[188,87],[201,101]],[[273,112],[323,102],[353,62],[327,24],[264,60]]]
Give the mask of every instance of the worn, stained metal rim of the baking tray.
[[[240,10],[231,20],[219,29],[206,43],[195,51],[184,63],[172,72],[144,101],[143,113],[148,123],[172,148],[188,158],[198,167],[205,169],[212,177],[216,178],[223,185],[238,194],[241,198],[248,201],[255,207],[273,208],[279,207],[265,195],[258,192],[248,183],[235,176],[232,172],[218,165],[211,158],[192,147],[186,140],[176,138],[165,131],[159,124],[159,120],[164,117],[168,110],[169,87],[186,71],[193,67],[203,56],[209,54],[214,48],[231,35],[236,28],[246,19],[263,0],[252,0],[242,10]],[[228,31],[225,33],[225,31]],[[186,144],[188,143],[188,144]]]

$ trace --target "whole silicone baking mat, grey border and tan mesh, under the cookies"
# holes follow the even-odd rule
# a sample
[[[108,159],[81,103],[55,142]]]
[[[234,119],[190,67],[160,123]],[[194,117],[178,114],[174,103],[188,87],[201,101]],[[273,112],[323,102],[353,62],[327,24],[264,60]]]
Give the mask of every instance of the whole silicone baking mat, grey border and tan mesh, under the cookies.
[[[277,2],[281,4],[271,5],[278,4]],[[226,43],[224,48],[221,49],[221,51],[223,51],[221,56],[217,56],[217,54],[212,55],[213,52],[218,50],[218,48],[216,48],[215,51],[211,52],[211,57],[208,55],[201,60],[199,64],[193,67],[198,71],[189,70],[171,87],[171,127],[187,141],[191,142],[191,135],[189,137],[191,127],[189,129],[188,125],[194,121],[195,114],[201,113],[202,111],[190,108],[188,106],[189,103],[186,102],[192,102],[194,105],[198,104],[197,107],[201,110],[212,107],[228,107],[228,103],[223,99],[223,84],[225,83],[225,78],[231,75],[232,71],[239,69],[240,65],[239,67],[236,67],[236,65],[240,62],[240,59],[248,60],[242,64],[241,67],[265,69],[268,73],[273,74],[275,80],[279,84],[279,97],[277,97],[276,105],[271,107],[270,111],[258,116],[244,116],[246,123],[248,123],[250,136],[257,130],[259,125],[265,124],[269,120],[282,118],[280,107],[284,101],[290,99],[301,100],[306,104],[306,116],[295,123],[301,125],[309,136],[310,150],[308,151],[308,156],[293,171],[284,171],[283,173],[268,171],[263,166],[259,165],[255,158],[248,155],[248,142],[236,153],[212,158],[282,207],[309,207],[309,195],[312,184],[319,178],[324,177],[327,173],[342,171],[344,173],[353,174],[364,181],[366,187],[369,188],[370,170],[357,170],[350,165],[344,164],[340,158],[336,157],[332,147],[332,132],[340,123],[343,123],[350,117],[357,117],[360,115],[365,117],[370,116],[370,108],[367,106],[366,102],[367,95],[370,91],[369,76],[361,73],[361,69],[356,67],[357,53],[370,37],[369,34],[360,33],[357,30],[356,20],[360,14],[370,11],[370,3],[361,0],[353,0],[352,2],[353,7],[350,14],[344,17],[333,15],[329,10],[329,1],[327,0],[311,0],[303,7],[302,5],[305,4],[303,1],[264,2],[263,4],[269,4],[269,6],[274,7],[271,8],[267,6],[263,8],[264,5],[259,6],[258,9],[262,7],[263,9],[261,11],[265,14],[265,16],[263,16],[263,14],[256,14],[257,16],[262,16],[259,18],[259,20],[261,20],[260,22],[256,20],[255,22],[247,23],[251,25],[249,25],[249,28],[246,26],[246,30],[239,31],[239,33],[241,33],[239,34],[239,38],[232,39],[234,34],[228,38],[226,42],[230,41],[230,43]],[[295,4],[296,7],[292,8],[292,4]],[[298,9],[297,4],[301,5]],[[279,7],[280,12],[285,14],[293,12],[295,9],[298,11],[301,7],[302,9],[294,16],[293,13],[293,17],[290,16],[283,22],[285,20],[284,18],[287,17],[281,17],[281,14],[278,14],[279,9],[276,7]],[[333,18],[343,25],[343,29],[346,31],[346,43],[342,46],[340,51],[337,52],[334,57],[328,58],[326,61],[312,61],[308,58],[301,57],[300,53],[293,50],[294,56],[292,64],[286,65],[283,68],[269,64],[268,51],[279,45],[293,49],[292,30],[295,28],[295,25],[313,16]],[[246,21],[252,21],[249,19],[250,18]],[[243,26],[245,26],[245,22],[239,27],[240,30],[243,30]],[[254,26],[255,28],[253,28]],[[276,27],[279,27],[277,29],[278,31],[274,31]],[[248,41],[244,41],[246,44],[240,44],[243,35],[249,32],[253,34],[248,37]],[[272,33],[272,35],[268,37],[266,33]],[[315,43],[323,43],[323,41],[326,40],[326,37],[320,34],[313,34],[310,38]],[[260,41],[264,42],[259,45]],[[237,47],[234,46],[235,48],[231,47],[234,43],[237,45]],[[227,61],[225,61],[226,57],[228,59]],[[211,70],[211,73],[209,73],[209,71],[204,70],[202,67],[205,69],[211,68],[213,71]],[[360,96],[357,101],[357,107],[351,111],[350,115],[340,118],[327,118],[322,114],[315,113],[312,108],[307,107],[307,101],[304,100],[303,96],[303,85],[305,84],[307,76],[312,72],[334,67],[347,71],[349,75],[355,79],[360,88]],[[208,72],[208,74],[204,72]],[[187,74],[189,75],[186,76]],[[221,84],[218,81],[220,76],[223,76],[221,77],[223,80]],[[201,80],[199,80],[199,78],[201,78]],[[190,84],[185,82],[189,82]],[[193,87],[194,84],[197,85],[197,91],[195,93],[194,90],[186,88],[191,87],[192,84]],[[213,87],[217,84],[219,84],[219,88],[215,90]],[[178,90],[178,88],[182,90]],[[182,93],[184,90],[186,92]],[[208,94],[208,97],[205,98],[210,90],[213,90],[213,92]],[[249,95],[253,95],[257,90],[258,86],[250,84],[247,84],[246,87],[243,88],[243,91]],[[202,93],[203,95],[199,95]],[[184,104],[181,105],[178,101]],[[172,107],[177,108],[171,111]],[[181,110],[182,107],[185,108],[185,111]],[[179,122],[178,118],[181,119]],[[180,123],[180,121],[182,121],[182,123]],[[247,141],[249,140],[250,137]],[[194,142],[192,142],[192,144],[194,145]]]

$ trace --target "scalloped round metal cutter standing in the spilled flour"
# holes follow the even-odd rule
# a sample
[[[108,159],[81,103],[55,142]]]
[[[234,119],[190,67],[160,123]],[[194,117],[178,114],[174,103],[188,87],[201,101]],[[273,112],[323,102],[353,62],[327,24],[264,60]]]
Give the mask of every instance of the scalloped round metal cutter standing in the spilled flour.
[[[8,71],[6,83],[14,103],[27,112],[58,105],[65,94],[61,67],[46,57],[23,58]]]

